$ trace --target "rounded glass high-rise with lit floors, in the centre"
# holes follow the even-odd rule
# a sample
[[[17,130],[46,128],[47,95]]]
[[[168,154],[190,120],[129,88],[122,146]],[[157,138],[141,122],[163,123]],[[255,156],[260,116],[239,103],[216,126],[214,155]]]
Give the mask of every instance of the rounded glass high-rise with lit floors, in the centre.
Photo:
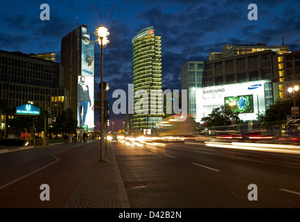
[[[132,128],[135,132],[153,129],[162,120],[164,102],[161,78],[161,36],[153,26],[139,31],[132,39],[132,83],[135,95]],[[140,108],[140,112],[136,112],[137,107]]]

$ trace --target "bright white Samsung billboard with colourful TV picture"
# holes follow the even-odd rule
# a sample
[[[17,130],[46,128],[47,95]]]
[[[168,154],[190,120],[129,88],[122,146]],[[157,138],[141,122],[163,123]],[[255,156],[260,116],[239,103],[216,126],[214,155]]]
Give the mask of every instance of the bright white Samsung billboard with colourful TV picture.
[[[239,112],[243,121],[254,121],[258,112],[265,112],[265,83],[270,80],[258,80],[247,83],[217,85],[195,89],[196,121],[201,122],[214,108],[229,106],[233,112]]]

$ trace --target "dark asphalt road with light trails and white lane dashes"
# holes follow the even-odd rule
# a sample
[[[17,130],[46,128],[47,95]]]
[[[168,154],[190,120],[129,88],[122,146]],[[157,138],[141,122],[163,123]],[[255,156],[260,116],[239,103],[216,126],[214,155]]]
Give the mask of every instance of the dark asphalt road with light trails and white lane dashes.
[[[120,140],[114,148],[132,208],[300,207],[299,154]]]

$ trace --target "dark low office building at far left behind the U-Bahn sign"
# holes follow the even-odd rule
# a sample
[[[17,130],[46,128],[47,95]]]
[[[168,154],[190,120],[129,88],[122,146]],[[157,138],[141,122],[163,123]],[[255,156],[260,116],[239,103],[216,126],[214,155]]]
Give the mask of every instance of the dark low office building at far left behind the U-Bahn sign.
[[[60,63],[0,51],[0,67],[0,100],[10,108],[31,103],[53,118],[68,108],[69,92]],[[1,114],[1,130],[6,127],[4,118]]]

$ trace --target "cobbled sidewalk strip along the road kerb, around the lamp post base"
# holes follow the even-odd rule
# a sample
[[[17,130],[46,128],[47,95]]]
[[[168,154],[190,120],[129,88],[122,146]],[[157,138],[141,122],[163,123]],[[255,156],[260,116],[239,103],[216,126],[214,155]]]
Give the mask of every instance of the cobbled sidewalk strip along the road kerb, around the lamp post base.
[[[105,148],[105,159],[91,164],[67,208],[130,208],[113,144]]]

